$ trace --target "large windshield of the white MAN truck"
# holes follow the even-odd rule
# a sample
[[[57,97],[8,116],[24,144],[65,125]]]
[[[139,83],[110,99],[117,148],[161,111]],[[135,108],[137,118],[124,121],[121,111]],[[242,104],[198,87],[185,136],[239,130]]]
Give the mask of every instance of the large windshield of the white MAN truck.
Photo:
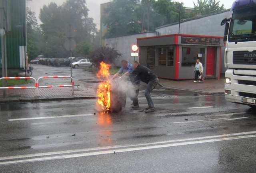
[[[234,10],[230,22],[228,41],[256,41],[255,7]]]

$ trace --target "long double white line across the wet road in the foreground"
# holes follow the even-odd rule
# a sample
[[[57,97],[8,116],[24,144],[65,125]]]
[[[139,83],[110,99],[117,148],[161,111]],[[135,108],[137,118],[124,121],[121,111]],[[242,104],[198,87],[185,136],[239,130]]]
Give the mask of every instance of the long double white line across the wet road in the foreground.
[[[216,135],[216,136],[204,136],[199,138],[188,138],[188,139],[182,139],[182,140],[153,142],[153,143],[145,143],[145,144],[116,145],[116,146],[110,146],[110,147],[97,147],[97,148],[88,148],[88,149],[76,149],[76,150],[66,150],[66,151],[57,151],[57,152],[48,152],[48,153],[17,155],[17,156],[9,156],[9,157],[0,157],[0,160],[20,159],[20,160],[13,160],[13,161],[3,161],[3,162],[0,162],[0,165],[34,162],[34,161],[45,161],[45,160],[54,160],[54,159],[67,159],[67,158],[84,157],[84,156],[92,156],[92,155],[102,155],[102,154],[114,153],[114,151],[116,153],[120,153],[120,152],[128,152],[128,151],[156,149],[156,148],[172,147],[172,146],[179,146],[179,145],[202,144],[202,143],[208,143],[208,142],[218,142],[218,141],[236,140],[236,139],[243,139],[243,138],[255,138],[255,137],[256,137],[256,131],[252,131],[252,132],[241,132],[241,133],[235,133],[235,134],[224,134],[224,135]],[[146,145],[149,145],[149,146],[146,146]],[[118,149],[118,148],[123,148],[123,149]],[[97,151],[97,150],[104,150],[104,149],[108,149],[108,150]],[[109,149],[112,149],[112,150],[109,150]],[[90,152],[90,151],[94,151],[94,152]],[[78,152],[84,152],[84,153],[78,153]],[[78,153],[78,154],[58,155],[58,154],[68,154],[68,153]],[[49,156],[49,155],[58,155],[58,156],[42,157],[42,156]],[[28,157],[40,157],[40,158],[25,159]]]

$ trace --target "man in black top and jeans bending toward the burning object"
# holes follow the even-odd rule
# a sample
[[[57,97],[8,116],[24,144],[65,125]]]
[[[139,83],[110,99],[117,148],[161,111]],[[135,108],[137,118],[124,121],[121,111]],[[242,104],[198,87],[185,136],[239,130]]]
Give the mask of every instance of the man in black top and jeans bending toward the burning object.
[[[147,67],[144,67],[138,63],[138,61],[134,61],[132,63],[132,66],[134,67],[134,71],[130,73],[131,81],[137,81],[140,80],[147,84],[146,90],[145,90],[145,97],[148,101],[148,108],[146,108],[145,113],[154,112],[155,107],[153,100],[151,98],[150,92],[156,87],[158,84],[158,78],[156,74],[154,74],[150,69]]]

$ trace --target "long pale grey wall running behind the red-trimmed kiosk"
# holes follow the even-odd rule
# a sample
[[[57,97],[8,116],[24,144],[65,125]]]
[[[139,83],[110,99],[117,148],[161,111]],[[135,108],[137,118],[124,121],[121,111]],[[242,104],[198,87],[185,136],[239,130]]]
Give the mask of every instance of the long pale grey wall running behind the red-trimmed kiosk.
[[[185,20],[180,23],[180,34],[191,34],[191,35],[211,35],[211,36],[223,36],[225,26],[220,26],[220,22],[224,18],[230,18],[230,10],[218,12],[201,18],[193,20]],[[126,59],[128,62],[134,61],[134,57],[131,57],[131,45],[137,42],[137,38],[141,37],[152,37],[156,35],[170,35],[179,33],[178,24],[170,24],[156,28],[157,33],[146,32],[138,33],[134,35],[126,35],[121,37],[113,37],[105,39],[105,46],[114,48],[122,53],[122,57],[115,63],[116,66],[121,66],[121,60]],[[225,73],[226,68],[224,67],[224,50],[222,47],[222,64],[221,73]],[[138,57],[135,58],[138,60]]]

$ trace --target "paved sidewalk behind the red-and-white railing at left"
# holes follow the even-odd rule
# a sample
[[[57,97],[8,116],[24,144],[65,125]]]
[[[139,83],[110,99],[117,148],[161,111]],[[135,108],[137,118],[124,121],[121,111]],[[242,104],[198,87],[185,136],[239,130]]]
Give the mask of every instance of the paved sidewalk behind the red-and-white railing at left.
[[[70,82],[70,81],[68,81]],[[48,85],[70,85],[62,79],[54,79],[52,83],[40,83],[40,86]],[[34,83],[22,86],[34,86]],[[74,95],[72,95],[72,87],[57,88],[39,88],[38,96],[36,89],[5,89],[0,90],[0,102],[32,102],[32,101],[48,101],[48,100],[72,100],[72,99],[90,99],[96,98],[96,86],[89,85],[84,82],[74,81]]]

